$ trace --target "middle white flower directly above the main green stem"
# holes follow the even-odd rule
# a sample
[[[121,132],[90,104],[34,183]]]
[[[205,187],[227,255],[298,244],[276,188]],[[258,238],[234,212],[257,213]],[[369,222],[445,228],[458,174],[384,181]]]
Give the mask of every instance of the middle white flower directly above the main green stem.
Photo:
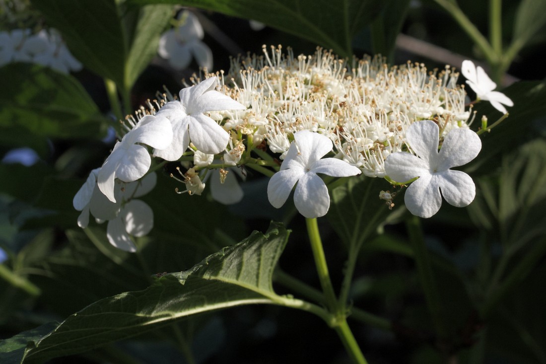
[[[324,181],[317,173],[333,177],[348,177],[360,169],[336,158],[324,158],[333,143],[327,137],[302,130],[294,133],[294,142],[281,165],[268,184],[269,202],[280,208],[286,202],[296,183],[294,204],[306,218],[324,216],[330,207],[330,196]]]

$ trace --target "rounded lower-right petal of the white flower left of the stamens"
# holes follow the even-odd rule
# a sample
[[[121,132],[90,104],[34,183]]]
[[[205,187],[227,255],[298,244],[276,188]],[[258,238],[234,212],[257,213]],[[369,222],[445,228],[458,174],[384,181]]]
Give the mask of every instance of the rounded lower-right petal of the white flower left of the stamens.
[[[216,121],[203,114],[189,116],[189,139],[205,154],[222,152],[229,142],[229,133]]]

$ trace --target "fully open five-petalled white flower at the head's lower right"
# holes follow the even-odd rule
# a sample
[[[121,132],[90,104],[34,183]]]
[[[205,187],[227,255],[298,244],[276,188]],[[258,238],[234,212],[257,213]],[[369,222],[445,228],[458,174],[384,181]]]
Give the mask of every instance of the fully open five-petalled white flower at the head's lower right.
[[[397,181],[415,177],[406,191],[404,201],[413,215],[430,218],[442,205],[442,196],[449,204],[465,207],[476,195],[472,178],[464,172],[449,168],[465,165],[482,149],[478,134],[470,129],[450,131],[438,152],[440,128],[434,121],[414,122],[406,132],[406,141],[417,154],[395,152],[385,160],[385,171]]]

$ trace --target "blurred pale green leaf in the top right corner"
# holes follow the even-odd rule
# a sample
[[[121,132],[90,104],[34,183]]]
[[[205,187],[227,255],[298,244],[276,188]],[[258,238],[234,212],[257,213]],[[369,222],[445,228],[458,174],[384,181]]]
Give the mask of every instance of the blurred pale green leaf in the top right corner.
[[[546,0],[523,0],[515,17],[513,42],[523,47],[546,25]]]

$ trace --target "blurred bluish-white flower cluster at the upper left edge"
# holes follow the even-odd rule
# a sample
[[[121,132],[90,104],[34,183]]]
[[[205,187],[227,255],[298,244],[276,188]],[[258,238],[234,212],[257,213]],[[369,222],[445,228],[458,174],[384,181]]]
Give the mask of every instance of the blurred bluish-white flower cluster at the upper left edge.
[[[62,73],[82,67],[52,29],[35,34],[29,29],[0,32],[0,67],[11,62],[38,63]]]

